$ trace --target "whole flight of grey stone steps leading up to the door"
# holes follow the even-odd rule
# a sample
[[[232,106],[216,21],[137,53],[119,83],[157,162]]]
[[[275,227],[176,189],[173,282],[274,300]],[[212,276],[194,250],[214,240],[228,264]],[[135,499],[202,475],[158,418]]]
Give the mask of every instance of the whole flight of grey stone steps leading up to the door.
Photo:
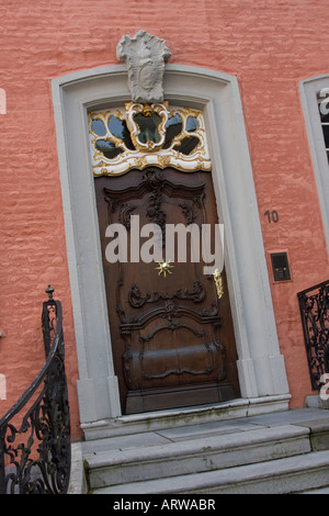
[[[129,420],[129,434],[125,423],[124,431],[117,428],[112,437],[81,442],[92,492],[284,493],[329,485],[327,410],[224,420],[207,416],[201,423],[193,415],[194,424],[189,417],[185,426],[182,419],[179,425],[164,426],[160,418],[152,416],[148,429],[139,423],[135,426],[135,420],[131,426]]]

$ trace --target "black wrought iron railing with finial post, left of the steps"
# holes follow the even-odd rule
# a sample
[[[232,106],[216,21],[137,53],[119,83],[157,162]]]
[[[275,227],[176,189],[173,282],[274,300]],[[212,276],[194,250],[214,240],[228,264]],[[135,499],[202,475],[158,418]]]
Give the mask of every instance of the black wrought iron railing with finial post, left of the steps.
[[[70,415],[61,304],[43,304],[46,361],[0,419],[0,494],[65,494],[70,475]]]

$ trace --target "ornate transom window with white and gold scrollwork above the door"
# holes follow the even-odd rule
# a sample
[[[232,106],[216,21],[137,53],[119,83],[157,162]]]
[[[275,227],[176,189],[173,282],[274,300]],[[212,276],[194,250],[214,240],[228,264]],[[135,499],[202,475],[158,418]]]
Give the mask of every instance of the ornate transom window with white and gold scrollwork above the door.
[[[94,176],[112,176],[149,165],[209,170],[201,111],[169,108],[168,102],[126,103],[122,109],[89,113]]]

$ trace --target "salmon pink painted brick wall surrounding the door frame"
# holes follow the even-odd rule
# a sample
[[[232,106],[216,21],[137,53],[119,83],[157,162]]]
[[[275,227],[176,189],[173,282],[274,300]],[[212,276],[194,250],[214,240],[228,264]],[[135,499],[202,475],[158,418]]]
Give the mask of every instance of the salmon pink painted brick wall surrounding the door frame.
[[[123,34],[166,40],[170,63],[238,78],[264,249],[287,250],[292,281],[269,274],[292,407],[311,393],[296,293],[329,278],[328,254],[298,82],[329,72],[320,0],[45,0],[0,2],[0,373],[7,400],[43,363],[48,283],[64,307],[72,435],[80,436],[78,364],[50,80],[115,65]],[[269,223],[265,211],[279,222]],[[257,317],[257,314],[254,314]]]

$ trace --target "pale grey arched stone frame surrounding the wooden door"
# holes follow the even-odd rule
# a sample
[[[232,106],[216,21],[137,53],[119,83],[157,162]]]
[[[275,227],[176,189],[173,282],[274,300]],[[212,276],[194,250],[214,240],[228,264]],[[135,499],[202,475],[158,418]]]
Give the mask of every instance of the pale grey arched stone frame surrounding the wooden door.
[[[87,110],[123,104],[131,93],[123,65],[53,79],[52,89],[83,424],[121,415]],[[287,407],[288,385],[279,348],[237,78],[200,67],[166,65],[163,89],[170,103],[204,113],[218,217],[225,228],[241,396],[283,396]]]

